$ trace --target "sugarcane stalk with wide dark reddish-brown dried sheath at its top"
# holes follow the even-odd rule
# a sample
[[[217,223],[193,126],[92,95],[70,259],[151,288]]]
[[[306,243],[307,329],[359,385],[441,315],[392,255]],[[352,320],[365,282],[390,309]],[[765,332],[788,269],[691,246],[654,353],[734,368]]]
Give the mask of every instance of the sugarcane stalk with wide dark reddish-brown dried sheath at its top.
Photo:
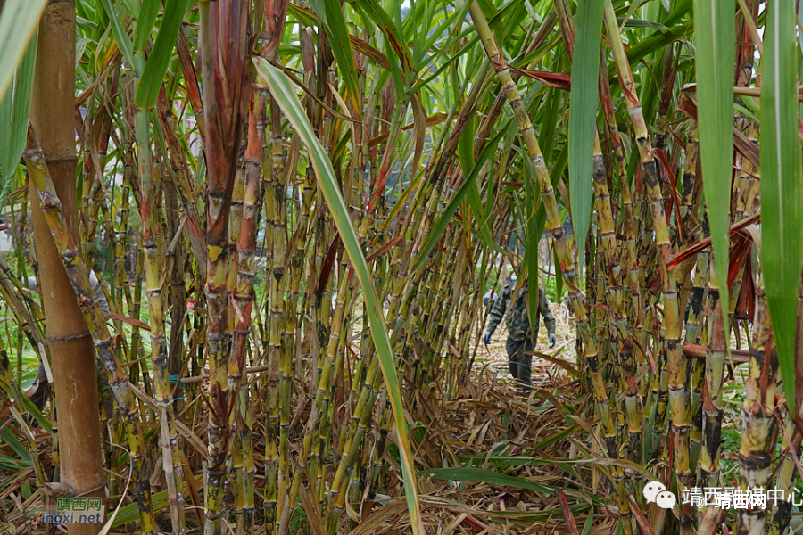
[[[223,512],[223,480],[227,473],[228,418],[236,400],[228,388],[232,342],[231,290],[236,283],[233,251],[228,241],[232,188],[250,96],[245,67],[248,5],[242,0],[199,4],[203,118],[208,168],[206,226],[207,342],[210,368],[209,437],[204,481],[204,533],[217,535]]]

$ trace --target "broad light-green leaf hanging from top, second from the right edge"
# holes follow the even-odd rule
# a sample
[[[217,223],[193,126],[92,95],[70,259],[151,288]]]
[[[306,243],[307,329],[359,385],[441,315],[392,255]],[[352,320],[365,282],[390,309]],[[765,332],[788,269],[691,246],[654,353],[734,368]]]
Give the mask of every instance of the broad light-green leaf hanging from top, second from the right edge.
[[[700,75],[697,78],[700,166],[726,332],[731,196],[723,192],[730,190],[733,175],[733,56],[736,53],[733,9],[733,1],[694,2],[696,60]]]

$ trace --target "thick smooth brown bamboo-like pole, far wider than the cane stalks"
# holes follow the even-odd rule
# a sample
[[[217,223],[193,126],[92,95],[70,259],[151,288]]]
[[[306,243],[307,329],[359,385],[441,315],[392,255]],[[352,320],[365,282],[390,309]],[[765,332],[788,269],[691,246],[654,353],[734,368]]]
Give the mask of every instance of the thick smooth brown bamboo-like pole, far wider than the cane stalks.
[[[47,343],[53,362],[55,405],[60,424],[62,481],[69,483],[82,495],[100,498],[104,494],[104,479],[95,351],[87,323],[81,317],[76,304],[76,294],[59,259],[64,251],[54,245],[54,236],[51,235],[47,217],[48,202],[51,202],[58,206],[62,235],[79,235],[75,206],[75,168],[78,158],[74,115],[75,32],[74,2],[48,2],[39,21],[36,71],[30,107],[31,120],[40,130],[43,145],[40,148],[39,142],[29,143],[28,149],[36,151],[35,155],[30,156],[37,159],[39,177],[52,174],[54,182],[48,179],[50,191],[46,198],[42,198],[38,194],[40,188],[37,188],[31,178],[29,193]],[[54,80],[59,80],[59,83],[54,84]],[[29,128],[29,135],[31,133]],[[60,197],[67,202],[63,208],[59,202]],[[80,254],[78,249],[73,252]],[[88,282],[87,277],[87,287]],[[124,377],[120,379],[125,381]],[[127,388],[125,383],[123,387]],[[73,407],[81,407],[81,410],[73,410]],[[94,440],[87,440],[87,437]],[[145,532],[148,528],[145,521],[148,518],[152,518],[150,510],[143,515]],[[101,528],[100,524],[73,525],[70,531],[78,535],[93,535]]]

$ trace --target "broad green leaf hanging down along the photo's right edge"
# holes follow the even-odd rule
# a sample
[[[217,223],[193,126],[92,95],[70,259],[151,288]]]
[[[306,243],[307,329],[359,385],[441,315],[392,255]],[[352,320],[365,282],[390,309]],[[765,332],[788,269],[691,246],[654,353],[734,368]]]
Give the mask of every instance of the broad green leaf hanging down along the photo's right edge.
[[[795,332],[803,258],[795,40],[794,0],[769,3],[761,62],[761,268],[783,390],[793,415],[797,408]]]

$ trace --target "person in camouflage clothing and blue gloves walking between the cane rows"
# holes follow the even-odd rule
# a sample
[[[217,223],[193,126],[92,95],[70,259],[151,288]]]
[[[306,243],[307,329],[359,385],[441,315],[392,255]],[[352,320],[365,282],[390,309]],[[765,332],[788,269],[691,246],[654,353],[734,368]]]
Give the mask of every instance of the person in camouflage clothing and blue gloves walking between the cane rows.
[[[513,379],[521,384],[524,390],[533,388],[531,352],[535,349],[535,340],[538,336],[539,319],[543,317],[543,323],[547,327],[550,335],[550,347],[555,347],[555,317],[552,316],[550,304],[546,300],[543,288],[538,289],[538,313],[535,315],[534,328],[530,328],[530,320],[527,315],[527,286],[526,282],[516,296],[516,302],[509,307],[510,300],[513,299],[513,292],[516,290],[516,279],[508,280],[501,295],[493,303],[491,315],[488,317],[488,331],[485,333],[485,344],[491,343],[491,336],[501,323],[501,318],[505,316],[505,324],[508,327],[508,342],[505,349],[508,351],[508,368]]]

